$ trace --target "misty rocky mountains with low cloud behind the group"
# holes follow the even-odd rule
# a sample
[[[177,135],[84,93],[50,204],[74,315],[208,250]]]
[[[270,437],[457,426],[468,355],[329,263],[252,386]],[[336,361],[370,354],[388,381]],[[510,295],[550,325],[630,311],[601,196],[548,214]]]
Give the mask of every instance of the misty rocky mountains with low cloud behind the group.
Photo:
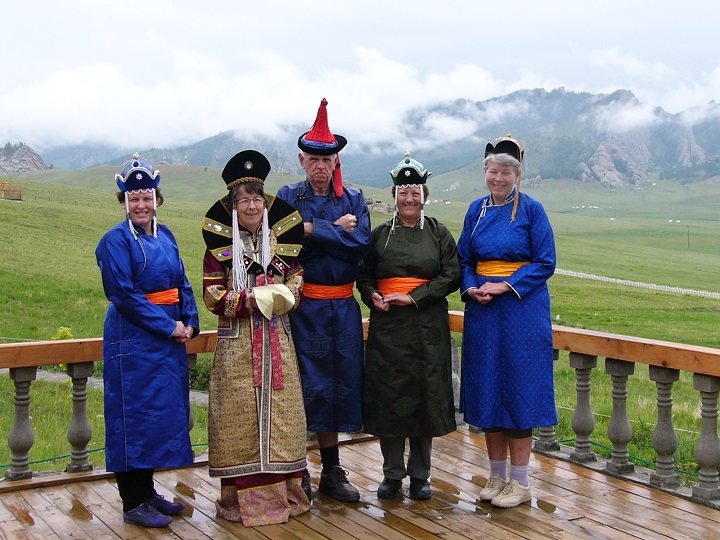
[[[453,126],[445,128],[450,133],[445,137],[454,140],[437,142],[443,140],[440,125]],[[162,149],[66,146],[44,151],[43,157],[55,167],[79,169],[119,165],[140,151],[153,163],[222,168],[237,151],[256,148],[268,156],[273,172],[297,175],[301,171],[296,140],[302,130],[288,126],[283,130],[286,135],[277,139],[227,131]],[[649,178],[687,184],[720,174],[720,106],[710,102],[704,108],[670,114],[641,103],[629,90],[596,95],[535,89],[478,102],[458,99],[409,111],[401,132],[408,141],[402,151],[397,141],[365,148],[350,138],[342,154],[344,177],[358,184],[387,186],[388,171],[406,149],[435,175],[451,171],[477,175],[486,142],[507,133],[527,150],[524,177],[539,184],[569,178],[613,189]]]

